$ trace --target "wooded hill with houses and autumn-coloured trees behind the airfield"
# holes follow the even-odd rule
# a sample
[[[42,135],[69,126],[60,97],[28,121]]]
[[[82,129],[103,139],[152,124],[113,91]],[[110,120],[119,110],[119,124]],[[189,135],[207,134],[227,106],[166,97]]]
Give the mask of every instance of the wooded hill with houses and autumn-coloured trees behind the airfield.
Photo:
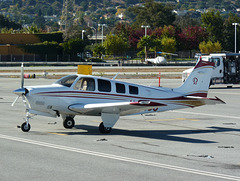
[[[103,53],[131,56],[136,53],[143,55],[147,47],[147,51],[156,56],[158,51],[197,52],[212,43],[218,45],[218,49],[233,51],[232,23],[240,23],[238,1],[76,0],[75,3],[76,13],[69,37],[62,42],[44,41],[32,47],[27,45],[25,49],[35,53],[41,47],[42,52],[49,53],[49,47],[55,47],[55,52],[75,56],[83,51],[94,50],[97,56]],[[55,0],[2,1],[0,8],[5,16],[0,16],[1,31],[58,31],[62,7],[62,1]],[[185,13],[178,15],[180,11]],[[104,27],[106,40],[103,45],[91,45],[88,37],[96,31],[101,32],[98,24],[107,25]],[[146,29],[147,36],[143,25],[149,26]],[[84,34],[82,30],[85,30]],[[238,31],[238,42],[239,35]],[[237,46],[239,49],[240,45]]]

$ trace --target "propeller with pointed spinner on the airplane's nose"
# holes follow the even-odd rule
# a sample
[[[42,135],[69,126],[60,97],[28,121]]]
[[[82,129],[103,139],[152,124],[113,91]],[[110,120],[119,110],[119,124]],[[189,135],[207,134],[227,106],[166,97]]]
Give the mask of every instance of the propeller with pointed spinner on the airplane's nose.
[[[13,101],[12,103],[12,106],[15,105],[15,103],[18,101],[19,97],[22,97],[23,99],[23,103],[24,105],[26,106],[27,104],[27,98],[26,98],[26,95],[29,91],[24,88],[24,70],[23,70],[23,63],[21,65],[21,84],[20,84],[20,88],[19,89],[16,89],[13,91],[14,94],[17,95],[16,99]],[[30,107],[30,104],[28,103],[28,107]]]

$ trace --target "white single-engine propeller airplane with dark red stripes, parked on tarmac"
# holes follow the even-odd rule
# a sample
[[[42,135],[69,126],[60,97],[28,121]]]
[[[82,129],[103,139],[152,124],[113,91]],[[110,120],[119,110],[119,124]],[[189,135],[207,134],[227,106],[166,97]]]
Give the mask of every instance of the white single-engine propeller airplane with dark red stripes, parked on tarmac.
[[[76,115],[101,116],[101,133],[110,133],[120,116],[194,108],[224,103],[207,98],[213,63],[200,60],[187,80],[178,88],[150,87],[90,75],[68,75],[52,85],[24,87],[23,64],[21,87],[13,91],[22,97],[26,119],[24,132],[31,128],[35,115],[62,116],[63,126],[71,129]]]

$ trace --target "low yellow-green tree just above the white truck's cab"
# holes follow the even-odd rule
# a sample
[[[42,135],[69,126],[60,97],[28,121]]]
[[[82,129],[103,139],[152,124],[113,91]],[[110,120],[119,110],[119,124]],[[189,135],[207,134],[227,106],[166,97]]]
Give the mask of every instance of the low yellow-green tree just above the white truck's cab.
[[[201,51],[201,53],[218,53],[221,52],[221,44],[217,41],[215,43],[213,43],[212,41],[208,41],[208,42],[201,42],[199,44],[199,49]]]

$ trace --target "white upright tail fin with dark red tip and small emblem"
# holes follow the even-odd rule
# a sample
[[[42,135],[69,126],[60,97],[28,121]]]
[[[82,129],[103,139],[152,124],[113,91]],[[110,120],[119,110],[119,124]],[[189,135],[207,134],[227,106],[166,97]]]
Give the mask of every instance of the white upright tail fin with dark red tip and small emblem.
[[[202,61],[200,57],[186,81],[174,91],[187,96],[207,97],[213,66],[214,63]]]

